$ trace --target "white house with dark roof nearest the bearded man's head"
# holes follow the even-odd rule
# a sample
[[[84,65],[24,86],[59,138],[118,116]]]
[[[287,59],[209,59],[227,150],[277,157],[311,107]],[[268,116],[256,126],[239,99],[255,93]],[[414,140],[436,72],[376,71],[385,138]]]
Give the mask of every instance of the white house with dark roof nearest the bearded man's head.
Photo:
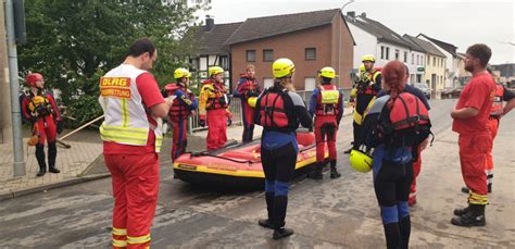
[[[443,61],[445,65],[445,88],[452,88],[455,85],[459,85],[459,64],[460,64],[460,57],[457,55],[457,47],[435,38],[431,38],[429,36],[426,36],[424,34],[418,34],[416,36],[419,39],[426,40],[431,42],[434,46],[436,46],[443,54],[445,54],[445,60]],[[441,61],[437,61],[437,64],[442,63]]]

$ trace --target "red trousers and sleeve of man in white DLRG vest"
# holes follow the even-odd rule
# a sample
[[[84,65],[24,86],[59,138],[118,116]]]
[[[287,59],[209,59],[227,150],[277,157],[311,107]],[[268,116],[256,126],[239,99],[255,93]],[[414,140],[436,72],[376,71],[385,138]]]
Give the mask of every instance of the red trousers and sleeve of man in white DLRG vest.
[[[163,103],[158,83],[150,73],[136,78],[137,89],[148,109]],[[147,114],[148,122],[156,125]],[[160,164],[155,134],[149,130],[146,146],[103,142],[103,154],[113,187],[113,248],[148,248],[150,226],[159,194]]]

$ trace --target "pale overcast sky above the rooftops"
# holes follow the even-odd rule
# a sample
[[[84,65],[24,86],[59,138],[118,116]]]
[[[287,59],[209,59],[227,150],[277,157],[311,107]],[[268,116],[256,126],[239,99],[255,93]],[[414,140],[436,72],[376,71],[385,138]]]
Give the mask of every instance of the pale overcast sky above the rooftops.
[[[242,22],[248,17],[341,8],[349,0],[211,0],[208,11],[215,23]],[[452,43],[459,52],[483,42],[492,49],[490,63],[515,63],[513,0],[501,1],[389,1],[355,0],[343,12],[366,12],[367,17],[401,36],[423,33]],[[203,15],[204,13],[199,13]],[[199,16],[204,18],[204,16]]]

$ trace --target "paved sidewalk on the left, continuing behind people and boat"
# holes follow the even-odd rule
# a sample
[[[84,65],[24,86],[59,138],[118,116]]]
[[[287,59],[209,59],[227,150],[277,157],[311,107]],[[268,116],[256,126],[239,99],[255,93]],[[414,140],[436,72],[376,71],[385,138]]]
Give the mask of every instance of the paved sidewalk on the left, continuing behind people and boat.
[[[344,116],[352,114],[352,108],[344,109]],[[254,127],[254,139],[261,137],[263,128],[259,125]],[[227,127],[227,139],[241,141],[243,126],[231,125]],[[188,150],[201,151],[205,149],[205,137],[208,130],[197,132],[188,139]],[[0,145],[0,201],[17,196],[28,195],[47,189],[68,186],[91,179],[109,176],[102,155],[102,144],[96,132],[89,130],[80,135],[74,135],[71,140],[65,140],[72,148],[65,149],[58,144],[56,166],[60,174],[47,173],[41,177],[36,177],[38,163],[34,154],[35,148],[29,147],[27,151],[27,138],[24,138],[24,155],[26,174],[22,177],[13,178],[13,152],[11,144]],[[160,154],[162,162],[169,161],[171,137],[166,137]],[[46,150],[47,153],[47,150]]]

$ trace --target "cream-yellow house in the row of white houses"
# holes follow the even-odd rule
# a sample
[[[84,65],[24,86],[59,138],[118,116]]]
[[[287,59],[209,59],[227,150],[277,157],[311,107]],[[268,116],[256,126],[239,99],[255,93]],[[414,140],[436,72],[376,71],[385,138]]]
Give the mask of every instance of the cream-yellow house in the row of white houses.
[[[416,43],[422,50],[425,51],[425,60],[419,64],[418,71],[424,73],[423,77],[417,78],[417,82],[427,83],[432,91],[432,96],[437,97],[444,88],[445,79],[445,54],[443,54],[436,46],[431,42],[418,39],[413,36],[404,35],[404,39]],[[422,79],[422,80],[418,80]]]

